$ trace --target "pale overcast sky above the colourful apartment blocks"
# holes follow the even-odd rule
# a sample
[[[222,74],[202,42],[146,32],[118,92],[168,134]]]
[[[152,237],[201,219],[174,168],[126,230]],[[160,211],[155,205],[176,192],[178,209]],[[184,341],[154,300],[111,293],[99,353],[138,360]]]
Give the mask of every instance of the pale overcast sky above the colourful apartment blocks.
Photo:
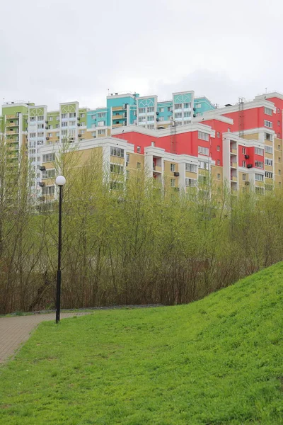
[[[283,91],[282,16],[282,0],[4,1],[1,103],[95,108],[110,89],[224,104]]]

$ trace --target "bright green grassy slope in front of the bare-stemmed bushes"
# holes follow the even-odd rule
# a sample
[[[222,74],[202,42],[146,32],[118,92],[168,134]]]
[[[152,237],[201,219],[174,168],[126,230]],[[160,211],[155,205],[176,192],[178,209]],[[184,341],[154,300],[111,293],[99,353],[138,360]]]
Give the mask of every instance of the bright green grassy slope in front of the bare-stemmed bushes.
[[[0,424],[283,424],[283,263],[190,305],[45,322]]]

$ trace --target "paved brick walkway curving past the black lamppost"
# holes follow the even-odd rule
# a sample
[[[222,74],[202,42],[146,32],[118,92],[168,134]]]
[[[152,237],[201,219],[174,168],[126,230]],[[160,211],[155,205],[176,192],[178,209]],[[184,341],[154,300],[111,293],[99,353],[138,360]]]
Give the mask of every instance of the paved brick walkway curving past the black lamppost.
[[[60,319],[82,316],[89,313],[61,313]],[[12,356],[17,348],[26,341],[30,332],[45,320],[54,320],[55,313],[30,314],[30,316],[0,317],[0,363]]]

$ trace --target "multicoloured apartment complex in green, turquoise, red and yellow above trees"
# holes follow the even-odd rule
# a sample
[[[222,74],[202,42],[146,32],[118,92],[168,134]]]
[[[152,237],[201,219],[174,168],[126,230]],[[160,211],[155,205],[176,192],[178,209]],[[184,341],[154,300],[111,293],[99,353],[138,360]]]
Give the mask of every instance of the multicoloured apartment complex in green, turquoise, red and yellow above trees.
[[[231,191],[253,187],[264,193],[282,186],[282,109],[279,93],[248,102],[242,98],[223,108],[193,91],[174,93],[171,101],[163,102],[157,96],[116,93],[96,110],[81,108],[78,102],[61,103],[57,111],[8,103],[0,123],[15,163],[21,143],[26,144],[37,196],[54,192],[51,159],[65,139],[76,142],[80,157],[100,152],[110,179],[116,181],[113,189],[123,187],[116,174],[126,181],[144,169],[176,190],[197,187],[212,175],[216,186],[225,181]]]

